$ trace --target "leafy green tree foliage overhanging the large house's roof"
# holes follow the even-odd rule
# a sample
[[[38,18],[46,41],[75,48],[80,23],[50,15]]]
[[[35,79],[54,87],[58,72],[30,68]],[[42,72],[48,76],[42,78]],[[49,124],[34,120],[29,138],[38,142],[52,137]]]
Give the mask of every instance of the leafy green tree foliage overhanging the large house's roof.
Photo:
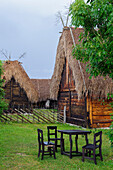
[[[113,1],[75,0],[70,15],[72,25],[84,28],[73,56],[87,63],[91,77],[108,75],[113,79]]]

